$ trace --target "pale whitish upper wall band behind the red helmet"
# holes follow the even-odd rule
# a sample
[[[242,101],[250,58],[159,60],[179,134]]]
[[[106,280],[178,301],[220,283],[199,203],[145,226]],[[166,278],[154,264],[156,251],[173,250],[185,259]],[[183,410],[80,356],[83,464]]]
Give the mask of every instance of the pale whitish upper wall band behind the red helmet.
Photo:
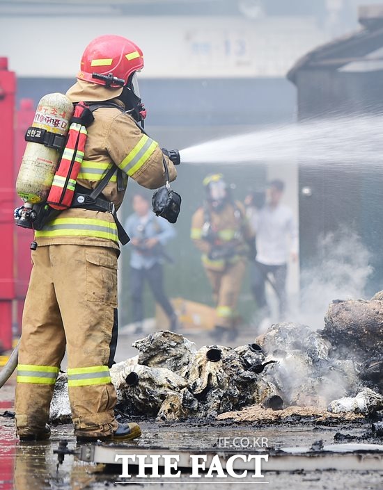
[[[2,16],[1,56],[19,76],[74,76],[97,35],[134,40],[145,55],[143,78],[283,77],[329,35],[314,17]]]

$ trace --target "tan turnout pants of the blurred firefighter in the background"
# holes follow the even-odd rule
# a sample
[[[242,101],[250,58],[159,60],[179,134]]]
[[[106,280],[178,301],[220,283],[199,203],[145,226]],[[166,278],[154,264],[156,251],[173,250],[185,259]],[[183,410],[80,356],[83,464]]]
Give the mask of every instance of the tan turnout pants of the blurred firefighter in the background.
[[[222,271],[208,268],[205,270],[217,305],[215,325],[225,328],[233,327],[244,277],[245,262],[239,260],[233,264],[228,264]]]

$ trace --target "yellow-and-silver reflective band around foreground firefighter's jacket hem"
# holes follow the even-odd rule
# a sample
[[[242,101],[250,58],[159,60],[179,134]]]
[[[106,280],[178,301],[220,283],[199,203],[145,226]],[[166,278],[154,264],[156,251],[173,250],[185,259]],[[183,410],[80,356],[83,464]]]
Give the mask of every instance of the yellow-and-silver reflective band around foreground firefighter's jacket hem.
[[[118,242],[116,223],[93,218],[56,218],[35,234],[36,237],[95,236]]]

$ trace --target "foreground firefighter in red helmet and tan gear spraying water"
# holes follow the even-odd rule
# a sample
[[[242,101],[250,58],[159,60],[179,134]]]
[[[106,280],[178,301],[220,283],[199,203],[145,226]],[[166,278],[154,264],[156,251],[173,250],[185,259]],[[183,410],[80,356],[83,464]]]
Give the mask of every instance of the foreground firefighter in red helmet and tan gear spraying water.
[[[136,122],[146,115],[136,84],[141,49],[116,35],[96,38],[81,58],[73,102],[93,106],[77,186],[90,190],[114,168],[102,198],[116,209],[128,177],[154,189],[165,183],[163,152]],[[170,180],[176,176],[166,158]],[[109,368],[116,349],[118,227],[108,211],[70,208],[36,231],[37,249],[22,320],[15,399],[21,440],[48,439],[49,404],[66,350],[75,434],[81,440],[134,439],[136,423],[114,416]]]

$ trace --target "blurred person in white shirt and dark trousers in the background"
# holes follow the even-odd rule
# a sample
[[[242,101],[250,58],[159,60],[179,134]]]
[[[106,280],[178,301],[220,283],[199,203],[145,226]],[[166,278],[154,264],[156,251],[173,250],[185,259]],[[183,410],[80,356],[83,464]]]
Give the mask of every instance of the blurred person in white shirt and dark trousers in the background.
[[[267,201],[249,218],[256,231],[257,256],[251,271],[251,290],[258,304],[258,318],[270,316],[265,283],[272,284],[279,300],[279,320],[285,319],[287,304],[286,276],[288,261],[298,259],[298,231],[292,211],[281,204],[284,183],[275,179],[268,184]]]

